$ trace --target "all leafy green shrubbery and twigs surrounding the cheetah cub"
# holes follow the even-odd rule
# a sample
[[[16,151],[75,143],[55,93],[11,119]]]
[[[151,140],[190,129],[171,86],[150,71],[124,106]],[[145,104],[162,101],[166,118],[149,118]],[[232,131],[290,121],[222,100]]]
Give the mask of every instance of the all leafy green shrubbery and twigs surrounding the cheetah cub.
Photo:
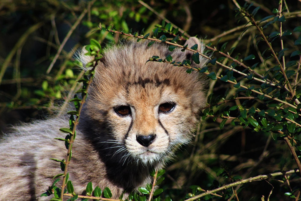
[[[110,189],[92,183],[87,184],[86,196],[73,189],[67,170],[70,144],[76,140],[77,119],[101,46],[133,37],[148,40],[149,46],[161,42],[170,51],[194,52],[192,61],[153,55],[147,62],[185,66],[187,73],[199,71],[208,86],[194,142],[178,151],[166,170],[153,172],[153,184],[140,187],[128,200],[300,199],[301,4],[216,2],[219,6],[173,0],[3,4],[0,40],[2,47],[10,48],[0,52],[0,112],[2,118],[11,119],[2,124],[26,121],[22,115],[36,118],[41,111],[53,115],[74,92],[82,97],[71,100],[76,110],[68,113],[70,128],[60,129],[67,136],[57,139],[68,149],[66,159],[53,159],[63,173],[42,196],[86,200],[103,194],[112,200]],[[18,27],[11,25],[18,20]],[[11,33],[14,37],[9,37]],[[197,45],[183,45],[188,33],[203,37],[205,53],[197,52]],[[87,54],[95,60],[88,64],[92,70],[81,73],[73,55],[88,41]],[[208,59],[206,66],[191,68],[200,57]],[[76,80],[83,83],[82,89]]]

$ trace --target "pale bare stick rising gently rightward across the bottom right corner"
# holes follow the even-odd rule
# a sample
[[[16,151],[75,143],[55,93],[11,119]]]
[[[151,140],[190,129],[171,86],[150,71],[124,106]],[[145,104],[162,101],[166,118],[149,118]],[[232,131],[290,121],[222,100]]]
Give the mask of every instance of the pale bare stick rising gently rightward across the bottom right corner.
[[[299,170],[296,170],[296,171],[295,170],[290,170],[290,171],[287,171],[287,172],[275,172],[275,173],[271,173],[271,174],[263,174],[263,175],[258,175],[256,177],[250,177],[250,178],[247,178],[247,179],[244,179],[244,180],[233,182],[231,184],[227,184],[225,186],[222,186],[222,187],[219,187],[219,188],[216,188],[216,189],[213,189],[213,190],[208,190],[205,193],[202,193],[200,195],[191,197],[191,198],[186,199],[184,201],[192,201],[192,200],[198,199],[200,197],[203,197],[203,196],[206,196],[206,195],[209,195],[209,194],[212,194],[212,193],[216,193],[220,190],[225,190],[227,188],[237,186],[239,184],[245,184],[245,183],[253,182],[253,181],[261,181],[261,180],[268,179],[269,177],[275,177],[275,176],[279,176],[279,175],[291,174],[291,173],[295,173],[295,172],[299,172]]]

